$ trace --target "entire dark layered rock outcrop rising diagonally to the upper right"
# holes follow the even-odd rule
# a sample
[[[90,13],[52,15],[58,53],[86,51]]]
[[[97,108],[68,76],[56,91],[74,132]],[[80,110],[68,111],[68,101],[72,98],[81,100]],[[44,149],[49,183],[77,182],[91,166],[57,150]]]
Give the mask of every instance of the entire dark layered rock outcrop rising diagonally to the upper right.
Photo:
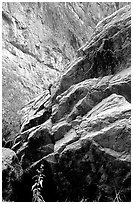
[[[52,94],[44,91],[22,109],[12,146],[24,171],[15,201],[32,200],[40,164],[45,201],[131,199],[130,6],[98,23],[89,38]]]

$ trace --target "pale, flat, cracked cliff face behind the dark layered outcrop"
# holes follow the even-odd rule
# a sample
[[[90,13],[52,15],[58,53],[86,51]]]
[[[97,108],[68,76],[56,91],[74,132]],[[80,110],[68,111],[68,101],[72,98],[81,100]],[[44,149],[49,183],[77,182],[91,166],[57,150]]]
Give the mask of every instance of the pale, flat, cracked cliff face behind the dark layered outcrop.
[[[55,84],[99,20],[127,3],[3,3],[3,136],[20,130],[19,110]]]

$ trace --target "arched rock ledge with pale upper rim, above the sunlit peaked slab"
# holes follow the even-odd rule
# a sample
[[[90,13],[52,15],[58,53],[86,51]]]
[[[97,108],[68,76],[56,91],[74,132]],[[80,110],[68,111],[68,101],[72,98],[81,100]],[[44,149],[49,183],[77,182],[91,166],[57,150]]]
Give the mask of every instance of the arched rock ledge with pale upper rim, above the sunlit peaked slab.
[[[77,116],[83,116],[112,93],[121,94],[131,102],[130,68],[114,76],[87,79],[70,87],[61,94],[61,99],[52,113],[52,121],[66,118],[70,122]]]

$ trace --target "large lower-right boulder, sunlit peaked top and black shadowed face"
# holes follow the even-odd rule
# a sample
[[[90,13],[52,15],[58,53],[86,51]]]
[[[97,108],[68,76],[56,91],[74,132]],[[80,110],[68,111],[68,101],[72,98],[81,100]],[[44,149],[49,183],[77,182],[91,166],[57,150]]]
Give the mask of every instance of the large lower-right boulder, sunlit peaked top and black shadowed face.
[[[76,140],[69,132],[69,143],[56,142],[70,200],[84,196],[87,201],[114,201],[115,191],[122,200],[130,199],[130,111],[124,97],[113,94],[83,117]]]

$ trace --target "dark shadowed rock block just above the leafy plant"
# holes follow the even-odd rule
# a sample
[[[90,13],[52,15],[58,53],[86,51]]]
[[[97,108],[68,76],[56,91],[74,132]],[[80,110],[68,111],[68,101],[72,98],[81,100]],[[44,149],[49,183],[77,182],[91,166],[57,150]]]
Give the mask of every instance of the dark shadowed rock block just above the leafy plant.
[[[24,169],[54,151],[54,137],[45,125],[29,132],[24,141],[16,148]]]

